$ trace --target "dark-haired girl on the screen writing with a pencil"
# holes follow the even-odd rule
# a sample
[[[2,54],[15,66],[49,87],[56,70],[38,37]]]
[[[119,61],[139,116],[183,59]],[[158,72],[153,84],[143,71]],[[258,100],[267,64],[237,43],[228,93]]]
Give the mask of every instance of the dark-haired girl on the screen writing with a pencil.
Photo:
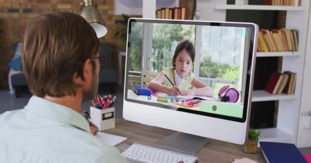
[[[201,82],[192,72],[194,57],[193,44],[189,40],[180,41],[174,52],[172,67],[163,67],[161,73],[151,80],[148,88],[153,92],[170,96],[212,97],[213,89]]]

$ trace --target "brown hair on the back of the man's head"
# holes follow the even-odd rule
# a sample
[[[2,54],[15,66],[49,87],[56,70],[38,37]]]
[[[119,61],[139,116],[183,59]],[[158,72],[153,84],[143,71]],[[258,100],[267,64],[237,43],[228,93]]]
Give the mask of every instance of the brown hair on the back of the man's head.
[[[25,30],[21,55],[29,90],[38,97],[75,95],[80,86],[74,74],[83,79],[84,61],[98,52],[99,40],[83,17],[56,12],[35,18]]]

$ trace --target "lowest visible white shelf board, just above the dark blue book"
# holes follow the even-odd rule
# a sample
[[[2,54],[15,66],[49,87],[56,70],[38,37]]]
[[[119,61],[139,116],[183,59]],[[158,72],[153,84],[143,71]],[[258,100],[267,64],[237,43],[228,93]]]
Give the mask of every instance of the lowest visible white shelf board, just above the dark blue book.
[[[279,142],[279,143],[294,143],[293,135],[282,131],[278,128],[255,129],[260,131],[259,141],[262,142]],[[259,142],[258,142],[259,145]]]

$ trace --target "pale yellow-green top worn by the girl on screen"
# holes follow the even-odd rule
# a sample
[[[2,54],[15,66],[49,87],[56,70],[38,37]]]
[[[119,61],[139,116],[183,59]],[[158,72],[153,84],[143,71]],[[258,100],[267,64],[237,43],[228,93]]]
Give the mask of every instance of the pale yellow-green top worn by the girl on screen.
[[[167,77],[174,84],[174,80],[175,80],[175,78],[174,78],[174,67],[163,67],[162,72],[165,73],[167,75]],[[192,80],[194,79],[195,76],[194,76],[192,71],[189,71],[189,73],[186,77],[187,77],[187,80],[182,85],[177,86],[182,91],[187,91],[192,87],[191,83],[192,83]],[[166,78],[165,78],[162,85],[172,87],[172,84]]]

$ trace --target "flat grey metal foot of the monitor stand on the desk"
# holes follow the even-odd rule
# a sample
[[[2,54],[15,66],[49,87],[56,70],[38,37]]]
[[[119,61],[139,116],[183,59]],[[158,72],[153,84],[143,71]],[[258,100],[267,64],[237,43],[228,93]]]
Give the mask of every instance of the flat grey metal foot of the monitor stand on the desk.
[[[168,137],[165,137],[161,141],[154,143],[156,146],[195,154],[208,142],[208,138],[199,137],[197,135],[176,132]]]

